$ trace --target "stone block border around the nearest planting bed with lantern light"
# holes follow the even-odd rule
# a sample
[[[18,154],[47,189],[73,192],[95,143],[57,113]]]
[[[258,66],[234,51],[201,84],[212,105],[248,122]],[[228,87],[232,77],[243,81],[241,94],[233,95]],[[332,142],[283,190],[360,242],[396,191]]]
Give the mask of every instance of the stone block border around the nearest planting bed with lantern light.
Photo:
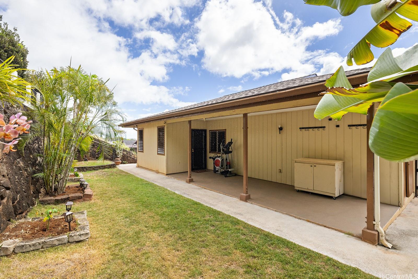
[[[43,217],[25,218],[18,222],[32,222],[41,220]],[[54,219],[64,218],[62,216],[54,216]],[[0,256],[9,255],[11,253],[22,253],[38,249],[44,249],[61,244],[87,240],[90,237],[89,221],[87,221],[87,211],[74,213],[74,218],[77,218],[77,230],[68,232],[62,235],[55,235],[49,237],[40,237],[29,240],[11,239],[0,243]]]

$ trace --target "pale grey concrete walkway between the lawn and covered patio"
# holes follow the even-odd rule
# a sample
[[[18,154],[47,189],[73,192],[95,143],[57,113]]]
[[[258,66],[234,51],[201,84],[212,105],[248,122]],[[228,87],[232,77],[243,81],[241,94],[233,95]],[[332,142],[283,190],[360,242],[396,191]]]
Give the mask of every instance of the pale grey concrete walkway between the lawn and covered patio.
[[[387,230],[388,239],[395,247],[390,250],[382,246],[373,246],[336,230],[137,168],[135,164],[125,164],[118,167],[179,195],[234,216],[344,264],[358,267],[375,276],[418,274],[417,219],[408,221],[409,215],[413,214],[416,217],[418,214],[416,199],[404,210],[405,216],[395,220]],[[402,235],[402,231],[405,230],[403,225],[415,228],[415,235],[411,235],[410,232]]]

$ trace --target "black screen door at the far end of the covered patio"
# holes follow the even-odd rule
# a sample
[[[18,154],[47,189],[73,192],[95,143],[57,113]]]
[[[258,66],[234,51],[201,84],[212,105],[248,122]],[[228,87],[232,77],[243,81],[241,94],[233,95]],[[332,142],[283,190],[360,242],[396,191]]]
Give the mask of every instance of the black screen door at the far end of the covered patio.
[[[206,169],[206,130],[191,130],[191,170]]]

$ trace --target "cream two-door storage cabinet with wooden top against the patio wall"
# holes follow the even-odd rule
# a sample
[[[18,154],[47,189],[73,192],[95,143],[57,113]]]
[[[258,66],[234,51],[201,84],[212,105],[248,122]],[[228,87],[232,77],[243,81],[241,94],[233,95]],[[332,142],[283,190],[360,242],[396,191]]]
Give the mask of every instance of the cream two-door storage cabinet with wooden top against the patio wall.
[[[295,189],[331,196],[344,193],[344,161],[295,159]]]

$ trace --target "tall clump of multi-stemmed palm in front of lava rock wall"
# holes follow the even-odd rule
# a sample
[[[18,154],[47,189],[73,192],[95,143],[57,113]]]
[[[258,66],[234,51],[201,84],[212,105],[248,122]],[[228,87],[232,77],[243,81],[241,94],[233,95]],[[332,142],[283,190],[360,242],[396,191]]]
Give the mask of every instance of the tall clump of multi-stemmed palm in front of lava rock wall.
[[[43,138],[43,172],[49,194],[64,192],[76,151],[91,147],[93,138],[114,139],[123,131],[117,124],[124,115],[106,82],[81,67],[54,68],[32,75],[30,81],[43,98],[33,105],[32,133],[23,137],[24,144],[35,136]],[[109,148],[102,148],[104,152]]]

